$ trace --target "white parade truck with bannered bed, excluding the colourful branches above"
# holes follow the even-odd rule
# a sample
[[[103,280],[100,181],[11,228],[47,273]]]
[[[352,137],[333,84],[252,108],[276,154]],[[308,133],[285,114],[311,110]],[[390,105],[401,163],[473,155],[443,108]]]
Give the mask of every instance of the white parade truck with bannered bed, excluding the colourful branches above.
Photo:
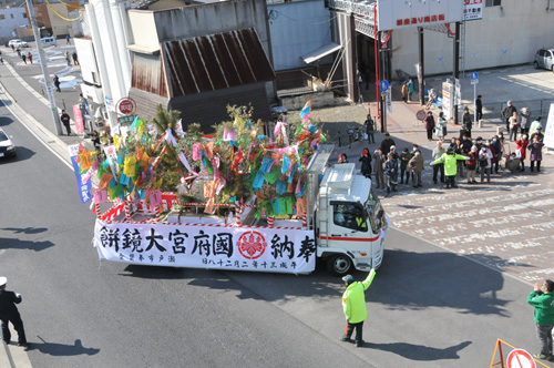
[[[156,208],[119,201],[102,214],[95,205],[94,246],[101,259],[138,265],[307,274],[319,258],[339,276],[351,267],[378,268],[388,217],[371,181],[355,164],[329,166],[331,152],[320,147],[307,166],[300,216],[257,218],[256,196],[219,205],[226,216],[203,215],[184,209],[206,204],[178,203],[164,193]]]

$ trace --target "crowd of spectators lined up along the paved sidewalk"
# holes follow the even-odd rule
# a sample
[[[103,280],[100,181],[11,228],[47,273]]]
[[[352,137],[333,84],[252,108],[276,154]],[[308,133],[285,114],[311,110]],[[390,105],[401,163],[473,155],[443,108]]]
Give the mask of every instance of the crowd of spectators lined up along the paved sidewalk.
[[[529,109],[524,109],[522,111],[526,114]],[[465,114],[469,112],[464,111]],[[428,112],[428,116],[432,119],[432,112]],[[432,129],[433,132],[431,132],[439,137],[431,161],[434,184],[440,181],[445,184],[447,188],[458,187],[455,184],[456,175],[466,178],[468,184],[475,184],[476,174],[480,174],[481,183],[485,180],[490,183],[491,174],[499,173],[501,163],[504,167],[510,167],[511,163],[515,164],[514,171],[523,172],[525,171],[527,151],[530,151],[531,171],[534,172],[535,167],[537,172],[541,171],[544,135],[540,116],[530,125],[526,122],[520,131],[515,132],[513,137],[516,150],[514,152],[511,152],[507,140],[502,132],[490,139],[478,136],[472,140],[471,119],[466,119],[465,122],[462,120],[460,137],[450,139],[447,147],[445,135],[448,132],[445,131],[447,123],[442,122],[443,120],[443,116],[439,114],[439,124],[435,124]],[[526,127],[527,125],[529,127]],[[512,131],[510,132],[512,136]],[[371,143],[371,139],[369,141]],[[412,144],[411,151],[408,147],[399,151],[390,134],[384,133],[384,140],[380,147],[375,150],[372,154],[369,149],[363,149],[359,161],[361,162],[362,175],[371,177],[373,174],[376,187],[387,190],[388,194],[396,192],[398,184],[410,184],[410,177],[413,187],[423,185],[421,174],[424,170],[424,161],[421,150],[416,143]],[[347,155],[340,154],[339,163],[345,162],[348,162]]]

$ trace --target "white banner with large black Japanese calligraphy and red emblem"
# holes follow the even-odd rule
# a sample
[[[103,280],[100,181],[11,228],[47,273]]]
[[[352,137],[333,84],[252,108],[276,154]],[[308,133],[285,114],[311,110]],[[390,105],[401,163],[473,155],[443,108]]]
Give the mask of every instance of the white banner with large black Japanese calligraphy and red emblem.
[[[101,259],[146,266],[307,274],[316,267],[314,232],[301,229],[104,223]]]

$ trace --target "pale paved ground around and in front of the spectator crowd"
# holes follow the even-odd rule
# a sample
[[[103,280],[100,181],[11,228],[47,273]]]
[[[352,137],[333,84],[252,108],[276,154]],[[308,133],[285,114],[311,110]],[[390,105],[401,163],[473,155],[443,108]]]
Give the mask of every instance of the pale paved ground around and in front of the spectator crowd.
[[[496,106],[500,108],[507,100],[554,100],[554,74],[534,70],[532,65],[482,71],[479,79],[481,91],[478,93],[483,95],[485,109],[482,127],[473,125],[473,137],[490,139],[499,127],[505,127]],[[442,79],[435,78],[428,81],[428,86],[438,88],[440,83]],[[469,84],[469,81],[462,81],[462,89],[465,83]],[[473,91],[465,92],[462,90],[462,103],[472,111]],[[376,115],[375,103],[370,104],[370,109],[371,114]],[[416,112],[421,109],[417,102],[393,101],[392,112],[387,113],[387,131],[394,140],[397,151],[404,147],[411,150],[412,143],[417,143],[425,161],[422,188],[413,188],[410,182],[408,185],[398,185],[398,192],[387,197],[383,190],[378,191],[384,197],[382,203],[391,226],[496,269],[504,277],[510,275],[529,285],[552,278],[554,156],[543,154],[540,173],[530,172],[527,155],[524,173],[500,171],[491,175],[491,183],[478,184],[466,184],[465,177],[458,176],[459,188],[447,190],[441,183],[432,182],[429,164],[437,139],[429,142],[423,123],[416,119]],[[437,119],[439,110],[432,111]],[[359,126],[366,120],[367,110],[362,104],[314,109],[312,113],[314,119],[325,123],[324,130],[328,131],[331,141],[336,142],[334,137],[337,132],[342,132],[342,146],[337,147],[331,164],[337,162],[338,154],[346,153],[349,162],[359,168],[362,149],[368,147],[372,153],[383,140],[382,133],[376,133],[376,143],[355,142],[348,146],[347,126]],[[289,115],[297,119],[298,112],[290,111]],[[537,113],[533,116],[536,117]],[[547,115],[542,116],[544,130]],[[459,129],[460,125],[448,124],[445,146],[450,137],[459,136]],[[504,136],[507,137],[506,134]],[[509,145],[512,151],[515,150],[513,142],[509,142]]]

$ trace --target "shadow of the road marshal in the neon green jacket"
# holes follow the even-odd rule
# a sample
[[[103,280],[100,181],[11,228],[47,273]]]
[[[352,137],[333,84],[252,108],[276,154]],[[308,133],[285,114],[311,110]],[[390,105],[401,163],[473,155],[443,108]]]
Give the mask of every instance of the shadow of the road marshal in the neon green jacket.
[[[366,343],[365,347],[390,351],[410,360],[441,360],[441,359],[460,359],[458,351],[471,345],[471,341],[463,341],[449,348],[439,349],[424,345],[414,345],[408,343],[390,343],[390,344],[373,344]]]

